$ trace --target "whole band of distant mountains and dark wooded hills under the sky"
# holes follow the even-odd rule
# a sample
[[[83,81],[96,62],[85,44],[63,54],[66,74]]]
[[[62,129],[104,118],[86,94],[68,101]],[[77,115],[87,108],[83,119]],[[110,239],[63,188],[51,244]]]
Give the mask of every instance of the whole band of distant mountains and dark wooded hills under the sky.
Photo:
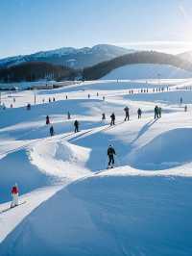
[[[76,56],[76,60],[79,60],[75,68],[74,64],[60,64],[60,60],[64,58],[68,60],[66,61],[67,63],[69,63],[69,60],[72,62],[72,59],[69,59],[69,55]],[[77,58],[80,56],[82,56],[82,59]],[[192,62],[186,61],[180,55],[176,56],[155,51],[136,52],[106,44],[79,50],[61,48],[54,51],[39,52],[27,57],[12,57],[1,60],[0,64],[1,83],[39,80],[95,80],[106,76],[113,69],[127,64],[168,64],[192,71]],[[77,68],[77,66],[81,67]]]

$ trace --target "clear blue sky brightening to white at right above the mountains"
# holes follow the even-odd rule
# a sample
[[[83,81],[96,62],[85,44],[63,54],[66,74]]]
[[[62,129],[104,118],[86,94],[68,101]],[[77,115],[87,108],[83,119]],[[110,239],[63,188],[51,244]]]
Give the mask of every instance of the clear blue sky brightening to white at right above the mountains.
[[[191,0],[0,0],[0,58],[111,43],[192,50]]]

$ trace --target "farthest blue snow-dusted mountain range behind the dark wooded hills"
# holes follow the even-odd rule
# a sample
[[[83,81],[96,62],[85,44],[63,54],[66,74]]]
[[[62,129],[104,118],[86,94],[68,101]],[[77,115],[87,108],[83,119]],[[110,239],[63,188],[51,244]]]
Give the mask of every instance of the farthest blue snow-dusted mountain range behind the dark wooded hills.
[[[132,52],[134,52],[134,50],[108,44],[98,44],[92,48],[84,47],[80,49],[63,47],[51,51],[37,52],[31,55],[21,55],[2,59],[0,60],[0,67],[5,68],[16,64],[43,62],[77,69],[109,61],[113,58]]]

